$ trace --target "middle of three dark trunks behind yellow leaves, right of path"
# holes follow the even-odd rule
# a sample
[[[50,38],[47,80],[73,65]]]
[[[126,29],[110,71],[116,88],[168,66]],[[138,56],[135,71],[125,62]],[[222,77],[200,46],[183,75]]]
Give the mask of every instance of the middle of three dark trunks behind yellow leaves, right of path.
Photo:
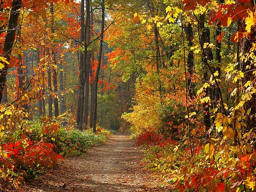
[[[199,31],[200,31],[200,37],[201,37],[201,44],[202,46],[204,45],[204,43],[209,42],[209,37],[210,37],[210,31],[207,27],[204,26],[204,22],[205,22],[205,15],[200,15],[199,18]],[[201,47],[202,47],[201,46]],[[208,81],[208,70],[207,70],[207,59],[208,60],[213,60],[213,53],[211,51],[210,48],[206,49],[206,55],[207,58],[204,57],[203,55],[203,64],[205,66],[205,70],[203,72],[203,80],[204,81]],[[209,89],[206,88],[205,91],[205,96],[209,96]],[[204,120],[204,124],[206,126],[206,129],[208,130],[211,127],[211,120],[210,120],[210,112],[209,112],[209,104],[208,103],[203,103],[203,111],[204,111],[204,116],[203,116],[203,120]]]

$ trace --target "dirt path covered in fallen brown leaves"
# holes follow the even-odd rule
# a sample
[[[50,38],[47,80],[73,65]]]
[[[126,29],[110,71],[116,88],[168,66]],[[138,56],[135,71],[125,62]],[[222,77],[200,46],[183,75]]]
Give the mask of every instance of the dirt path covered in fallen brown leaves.
[[[117,133],[86,156],[65,158],[63,164],[37,180],[26,192],[165,192],[144,170],[142,151],[125,133]]]

